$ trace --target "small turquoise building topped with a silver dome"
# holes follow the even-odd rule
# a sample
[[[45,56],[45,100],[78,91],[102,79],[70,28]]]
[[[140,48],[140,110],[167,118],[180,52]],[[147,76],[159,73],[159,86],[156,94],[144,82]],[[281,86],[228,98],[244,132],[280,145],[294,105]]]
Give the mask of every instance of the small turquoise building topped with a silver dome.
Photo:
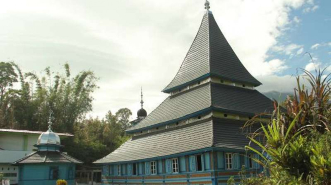
[[[18,167],[19,185],[56,185],[58,179],[75,184],[76,164],[82,162],[60,152],[60,137],[51,130],[42,133],[36,145],[37,150],[12,163]]]

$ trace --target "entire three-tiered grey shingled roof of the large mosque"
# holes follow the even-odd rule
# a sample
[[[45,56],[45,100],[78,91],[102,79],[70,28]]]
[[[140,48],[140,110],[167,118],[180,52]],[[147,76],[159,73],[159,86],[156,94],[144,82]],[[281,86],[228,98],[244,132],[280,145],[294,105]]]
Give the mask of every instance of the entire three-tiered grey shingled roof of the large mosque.
[[[126,132],[132,138],[95,163],[156,159],[213,147],[244,150],[240,129],[252,116],[271,112],[271,99],[240,62],[206,1],[206,9],[170,93],[155,110]]]

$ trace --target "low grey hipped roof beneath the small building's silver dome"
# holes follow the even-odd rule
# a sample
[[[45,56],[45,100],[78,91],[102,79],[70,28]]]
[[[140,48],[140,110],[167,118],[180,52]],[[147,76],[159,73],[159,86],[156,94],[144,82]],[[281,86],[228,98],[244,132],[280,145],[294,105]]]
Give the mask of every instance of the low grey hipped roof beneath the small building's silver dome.
[[[20,160],[12,163],[12,165],[32,164],[32,163],[77,163],[83,162],[75,159],[63,152],[55,151],[37,151]]]

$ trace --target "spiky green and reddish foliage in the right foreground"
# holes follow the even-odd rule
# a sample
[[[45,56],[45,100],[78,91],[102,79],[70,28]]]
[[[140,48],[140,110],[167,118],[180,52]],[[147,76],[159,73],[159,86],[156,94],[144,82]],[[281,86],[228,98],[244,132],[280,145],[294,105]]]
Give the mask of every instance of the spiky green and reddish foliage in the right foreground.
[[[242,177],[241,185],[331,185],[331,80],[320,70],[316,75],[305,70],[304,74],[310,87],[297,77],[295,96],[288,97],[285,109],[275,106],[267,123],[256,118],[246,124],[260,124],[250,139],[263,152],[246,148],[260,155],[261,160],[255,160],[266,171],[258,177]],[[261,135],[264,142],[256,139]]]

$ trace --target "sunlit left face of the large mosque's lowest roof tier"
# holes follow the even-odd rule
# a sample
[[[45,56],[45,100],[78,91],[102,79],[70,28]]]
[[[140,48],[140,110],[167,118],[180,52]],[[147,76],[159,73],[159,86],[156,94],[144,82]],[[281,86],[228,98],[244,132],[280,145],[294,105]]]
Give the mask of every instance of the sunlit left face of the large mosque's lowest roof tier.
[[[162,157],[212,146],[212,120],[132,137],[95,163],[113,163]]]

